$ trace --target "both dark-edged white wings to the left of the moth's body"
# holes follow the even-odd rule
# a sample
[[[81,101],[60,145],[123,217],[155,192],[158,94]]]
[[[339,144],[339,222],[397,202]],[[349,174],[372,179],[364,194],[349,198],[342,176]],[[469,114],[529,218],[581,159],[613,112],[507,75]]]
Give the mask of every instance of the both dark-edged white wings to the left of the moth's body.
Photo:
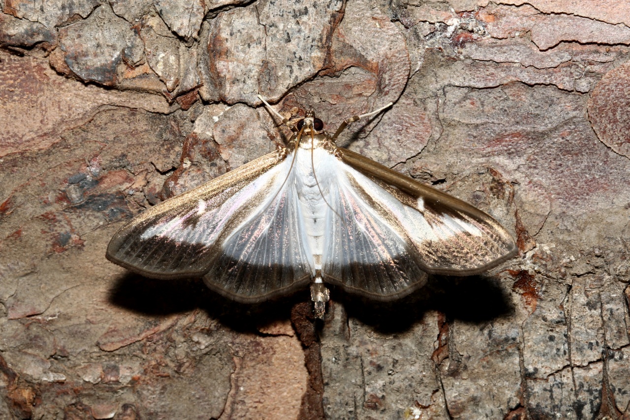
[[[310,269],[297,219],[285,205],[292,195],[284,182],[289,168],[283,152],[272,152],[166,200],[118,230],[106,256],[152,278],[203,276],[209,287],[243,302],[299,287]],[[236,246],[244,236],[261,249]],[[229,268],[234,261],[238,269]]]

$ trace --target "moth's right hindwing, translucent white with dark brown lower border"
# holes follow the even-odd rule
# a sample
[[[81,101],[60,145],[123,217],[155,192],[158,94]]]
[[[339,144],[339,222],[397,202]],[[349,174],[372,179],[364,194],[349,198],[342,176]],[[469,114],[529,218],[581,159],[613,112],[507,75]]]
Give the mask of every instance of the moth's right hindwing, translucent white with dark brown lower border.
[[[396,228],[396,220],[348,176],[347,169],[352,168],[333,156],[330,159],[328,167],[336,171],[338,183],[327,200],[331,211],[322,256],[324,281],[384,300],[424,285],[427,274],[421,270],[419,255]]]

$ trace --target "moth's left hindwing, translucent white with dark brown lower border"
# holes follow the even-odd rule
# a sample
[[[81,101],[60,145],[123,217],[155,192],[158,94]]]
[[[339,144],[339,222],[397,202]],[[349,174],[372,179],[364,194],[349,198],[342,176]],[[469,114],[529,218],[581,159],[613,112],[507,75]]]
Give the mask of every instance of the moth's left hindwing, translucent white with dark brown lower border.
[[[280,164],[285,175],[273,186],[268,199],[222,241],[203,276],[210,288],[219,288],[237,300],[256,302],[311,281],[312,253],[290,164],[290,157]]]

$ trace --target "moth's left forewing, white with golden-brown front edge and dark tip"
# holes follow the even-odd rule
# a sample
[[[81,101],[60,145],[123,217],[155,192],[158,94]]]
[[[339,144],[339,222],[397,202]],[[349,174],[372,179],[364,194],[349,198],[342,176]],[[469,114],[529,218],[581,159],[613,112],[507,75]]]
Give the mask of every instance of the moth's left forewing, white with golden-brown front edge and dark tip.
[[[282,183],[285,162],[280,152],[266,154],[152,207],[118,230],[107,258],[152,278],[204,275],[218,239],[253,217]]]

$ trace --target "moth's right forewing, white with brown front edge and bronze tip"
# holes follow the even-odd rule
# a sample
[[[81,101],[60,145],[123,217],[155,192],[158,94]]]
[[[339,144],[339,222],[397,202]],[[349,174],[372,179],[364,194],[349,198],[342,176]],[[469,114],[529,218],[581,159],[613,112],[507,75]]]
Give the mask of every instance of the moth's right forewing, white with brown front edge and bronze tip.
[[[478,208],[355,152],[340,152],[367,195],[398,220],[420,255],[423,270],[473,275],[518,253],[507,230]]]

